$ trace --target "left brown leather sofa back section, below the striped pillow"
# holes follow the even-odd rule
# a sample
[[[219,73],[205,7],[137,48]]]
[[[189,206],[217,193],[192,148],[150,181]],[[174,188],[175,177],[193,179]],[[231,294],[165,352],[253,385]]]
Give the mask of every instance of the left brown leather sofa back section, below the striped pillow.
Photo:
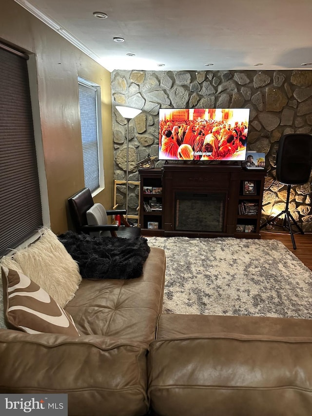
[[[1,393],[65,393],[68,415],[144,415],[144,342],[0,330]]]

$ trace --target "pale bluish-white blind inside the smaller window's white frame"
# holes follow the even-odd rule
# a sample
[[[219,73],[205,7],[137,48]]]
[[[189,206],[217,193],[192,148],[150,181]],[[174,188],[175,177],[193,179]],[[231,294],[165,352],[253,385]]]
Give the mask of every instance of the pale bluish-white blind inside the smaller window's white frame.
[[[99,187],[97,90],[79,84],[84,184],[91,192]]]

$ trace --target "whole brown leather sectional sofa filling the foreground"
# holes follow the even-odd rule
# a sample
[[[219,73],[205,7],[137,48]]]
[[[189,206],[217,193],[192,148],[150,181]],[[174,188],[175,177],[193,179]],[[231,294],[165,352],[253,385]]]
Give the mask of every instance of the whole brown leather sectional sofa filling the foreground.
[[[312,323],[161,314],[165,265],[151,248],[141,277],[83,279],[80,337],[0,329],[0,393],[66,393],[71,416],[311,416]]]

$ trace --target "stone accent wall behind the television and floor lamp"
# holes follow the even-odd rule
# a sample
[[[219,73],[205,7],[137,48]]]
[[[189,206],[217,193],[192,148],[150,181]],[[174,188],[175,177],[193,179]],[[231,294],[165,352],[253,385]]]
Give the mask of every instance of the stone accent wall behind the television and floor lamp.
[[[111,74],[115,179],[125,178],[127,122],[116,105],[143,112],[129,124],[129,180],[139,180],[137,162],[158,156],[159,108],[250,108],[247,150],[266,154],[263,218],[285,207],[285,185],[275,180],[278,141],[288,133],[312,132],[312,71],[119,71]],[[156,166],[163,165],[157,161]],[[304,231],[312,231],[311,179],[292,187],[291,212]],[[129,213],[138,189],[129,189]],[[125,187],[117,203],[125,206]]]

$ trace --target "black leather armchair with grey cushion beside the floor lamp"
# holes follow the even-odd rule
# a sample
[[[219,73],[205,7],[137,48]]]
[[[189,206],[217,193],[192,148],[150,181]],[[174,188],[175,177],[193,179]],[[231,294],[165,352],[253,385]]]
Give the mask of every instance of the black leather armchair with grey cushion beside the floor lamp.
[[[126,210],[105,210],[103,205],[94,203],[90,189],[83,188],[68,198],[69,212],[77,233],[92,236],[135,238],[141,234],[139,227],[131,227],[124,215]],[[120,215],[122,226],[107,223],[107,216]]]

